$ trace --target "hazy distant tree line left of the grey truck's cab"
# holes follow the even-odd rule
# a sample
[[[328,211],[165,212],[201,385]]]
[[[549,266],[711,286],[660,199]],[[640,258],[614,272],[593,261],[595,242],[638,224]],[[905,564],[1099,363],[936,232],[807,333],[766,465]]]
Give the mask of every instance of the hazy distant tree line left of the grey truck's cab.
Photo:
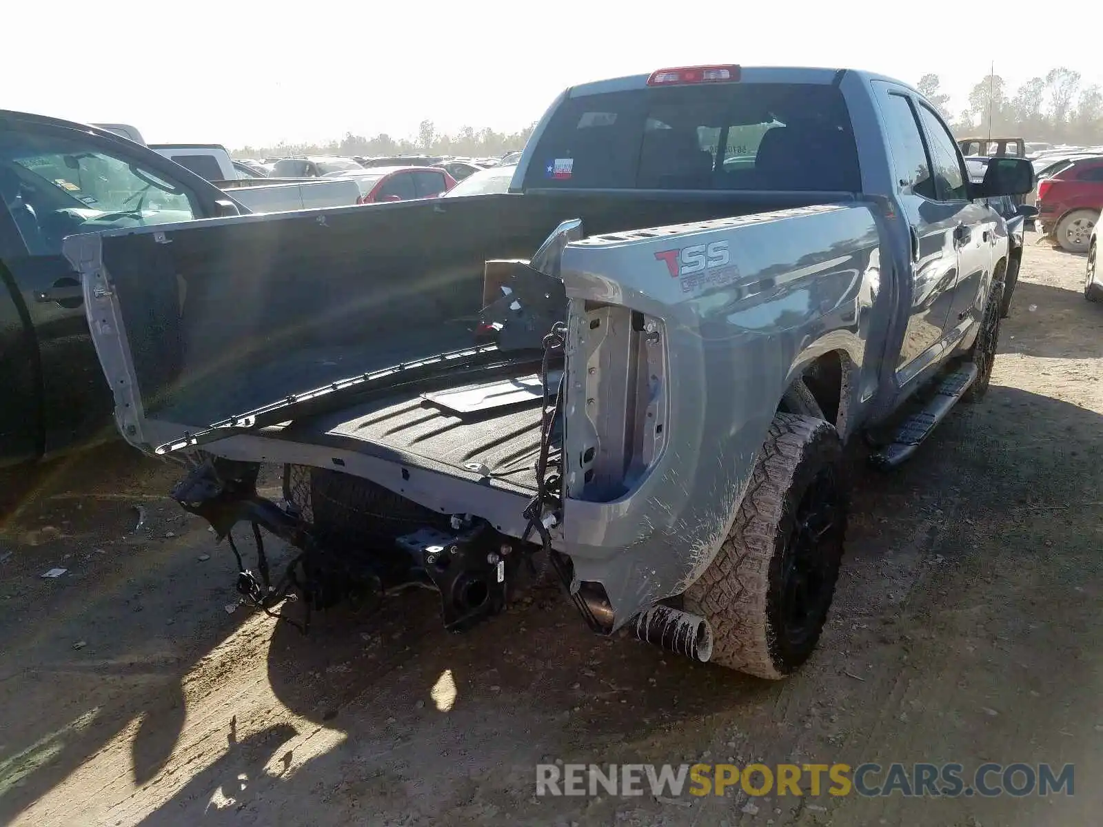
[[[424,152],[433,155],[499,158],[506,152],[524,149],[535,128],[536,125],[533,123],[520,132],[495,132],[490,127],[463,127],[454,135],[447,135],[439,132],[431,120],[422,120],[417,135],[408,138],[395,138],[386,132],[365,138],[347,132],[341,140],[328,143],[280,142],[274,147],[243,147],[234,150],[233,154],[237,158],[287,158],[297,154],[377,158]]]

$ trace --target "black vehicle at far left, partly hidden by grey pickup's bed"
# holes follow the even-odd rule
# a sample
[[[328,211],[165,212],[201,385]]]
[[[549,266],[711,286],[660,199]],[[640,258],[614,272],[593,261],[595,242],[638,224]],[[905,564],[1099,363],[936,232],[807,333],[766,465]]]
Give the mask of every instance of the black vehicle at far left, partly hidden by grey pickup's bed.
[[[0,110],[0,465],[111,434],[111,394],[62,239],[246,212],[117,135]]]

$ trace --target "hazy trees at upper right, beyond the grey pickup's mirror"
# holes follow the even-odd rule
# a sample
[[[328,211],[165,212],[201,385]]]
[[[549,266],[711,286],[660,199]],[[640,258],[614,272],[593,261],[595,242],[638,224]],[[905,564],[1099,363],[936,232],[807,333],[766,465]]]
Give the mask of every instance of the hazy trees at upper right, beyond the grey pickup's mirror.
[[[1079,72],[1060,66],[1011,89],[999,75],[986,75],[968,94],[968,106],[954,115],[936,74],[923,75],[917,88],[942,114],[959,138],[992,135],[1028,141],[1093,146],[1103,143],[1103,89],[1084,84]]]

